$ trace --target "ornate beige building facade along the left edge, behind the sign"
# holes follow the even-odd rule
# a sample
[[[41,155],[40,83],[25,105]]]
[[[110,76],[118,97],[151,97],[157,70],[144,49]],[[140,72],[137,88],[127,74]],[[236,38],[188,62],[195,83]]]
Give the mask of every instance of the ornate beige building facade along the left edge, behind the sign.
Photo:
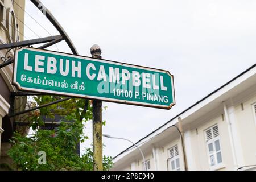
[[[24,0],[0,0],[0,44],[13,43],[23,40],[24,34]],[[23,10],[22,10],[23,9]],[[13,49],[0,50],[1,61],[14,56]],[[7,54],[6,54],[7,53]],[[15,118],[9,118],[10,109],[24,109],[24,98],[12,98],[11,92],[17,92],[11,84],[13,79],[13,64],[0,69],[0,164],[9,163],[7,151],[11,144],[9,139],[14,131]],[[26,99],[26,98],[25,98]],[[26,101],[25,101],[26,102]],[[12,106],[12,107],[11,107]]]

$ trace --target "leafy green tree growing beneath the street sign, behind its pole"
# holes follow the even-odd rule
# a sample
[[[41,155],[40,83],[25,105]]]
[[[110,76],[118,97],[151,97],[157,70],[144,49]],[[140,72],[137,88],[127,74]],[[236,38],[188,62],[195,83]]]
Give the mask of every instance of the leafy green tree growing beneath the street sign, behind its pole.
[[[55,101],[62,97],[34,97],[36,105]],[[54,119],[55,114],[65,116],[57,130],[43,130],[42,115]],[[8,154],[19,170],[92,170],[93,152],[87,148],[80,156],[76,154],[78,142],[84,142],[88,137],[83,133],[83,121],[92,119],[92,105],[88,100],[72,98],[60,104],[43,107],[40,111],[30,113],[34,134],[31,137],[15,133],[11,142],[13,146]],[[40,151],[46,154],[46,163],[42,164]],[[43,158],[42,158],[43,160]],[[112,158],[104,156],[104,170],[112,167]]]

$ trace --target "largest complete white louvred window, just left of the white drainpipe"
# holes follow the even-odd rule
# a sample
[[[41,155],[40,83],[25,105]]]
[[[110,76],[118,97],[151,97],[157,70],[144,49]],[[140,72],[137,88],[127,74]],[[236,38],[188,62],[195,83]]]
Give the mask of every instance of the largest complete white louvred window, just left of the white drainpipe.
[[[205,138],[209,154],[210,167],[217,166],[222,163],[220,135],[218,125],[212,126],[205,131]]]

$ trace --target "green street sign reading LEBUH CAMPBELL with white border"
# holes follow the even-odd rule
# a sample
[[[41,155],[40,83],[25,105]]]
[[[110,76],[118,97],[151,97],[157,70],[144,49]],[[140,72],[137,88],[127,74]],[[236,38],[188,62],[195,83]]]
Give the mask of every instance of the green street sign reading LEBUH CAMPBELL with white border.
[[[13,84],[19,90],[171,109],[174,80],[168,72],[22,47],[15,51]]]

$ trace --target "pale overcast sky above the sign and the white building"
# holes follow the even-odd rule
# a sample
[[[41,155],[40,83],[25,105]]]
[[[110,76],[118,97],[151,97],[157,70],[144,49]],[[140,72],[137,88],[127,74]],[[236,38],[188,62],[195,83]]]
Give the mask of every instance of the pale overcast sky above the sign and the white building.
[[[58,32],[26,0],[26,11],[51,35]],[[137,142],[169,119],[256,63],[256,1],[83,1],[42,0],[59,20],[79,55],[166,69],[174,75],[176,105],[171,110],[103,102],[103,133]],[[25,24],[49,36],[26,14]],[[25,27],[25,39],[38,38]],[[71,53],[65,42],[50,49]],[[92,125],[81,147],[92,143]],[[104,154],[115,156],[131,144],[103,140]]]

